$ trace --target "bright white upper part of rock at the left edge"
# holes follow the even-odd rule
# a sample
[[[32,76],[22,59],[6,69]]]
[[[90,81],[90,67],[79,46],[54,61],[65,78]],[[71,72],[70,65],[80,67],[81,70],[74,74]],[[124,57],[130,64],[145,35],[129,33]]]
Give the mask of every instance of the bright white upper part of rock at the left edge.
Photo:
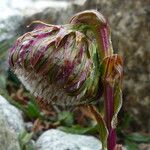
[[[21,112],[9,104],[9,102],[2,96],[0,96],[0,116],[5,119],[5,122],[10,130],[16,134],[24,131],[24,122]]]

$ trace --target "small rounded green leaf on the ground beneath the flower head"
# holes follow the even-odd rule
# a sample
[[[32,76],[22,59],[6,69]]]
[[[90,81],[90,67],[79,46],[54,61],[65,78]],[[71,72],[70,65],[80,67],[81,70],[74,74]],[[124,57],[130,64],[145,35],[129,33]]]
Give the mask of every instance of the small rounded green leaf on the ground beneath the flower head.
[[[58,114],[58,122],[61,125],[71,126],[74,123],[73,114],[68,111],[63,111]]]

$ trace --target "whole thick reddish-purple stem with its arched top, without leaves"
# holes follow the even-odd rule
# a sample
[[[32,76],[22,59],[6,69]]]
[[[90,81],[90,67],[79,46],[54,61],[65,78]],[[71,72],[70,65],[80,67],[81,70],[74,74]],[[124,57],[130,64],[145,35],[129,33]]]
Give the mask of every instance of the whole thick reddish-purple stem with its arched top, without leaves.
[[[86,24],[92,27],[98,44],[99,59],[102,62],[105,58],[113,55],[113,48],[110,39],[110,28],[107,19],[97,11],[84,11],[76,14],[70,20],[72,24]],[[108,69],[109,64],[103,64],[102,68]],[[106,80],[107,70],[103,72],[103,79]],[[106,78],[105,78],[106,77]],[[104,81],[105,90],[105,122],[108,128],[107,149],[114,150],[116,145],[116,131],[111,127],[111,120],[114,114],[114,87]]]

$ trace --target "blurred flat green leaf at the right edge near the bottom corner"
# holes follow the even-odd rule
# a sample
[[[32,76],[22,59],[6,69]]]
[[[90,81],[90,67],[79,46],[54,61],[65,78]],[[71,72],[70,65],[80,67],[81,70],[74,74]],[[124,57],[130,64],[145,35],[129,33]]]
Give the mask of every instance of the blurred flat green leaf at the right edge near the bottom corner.
[[[142,135],[140,133],[128,134],[128,135],[126,135],[126,139],[128,139],[130,141],[137,142],[137,143],[141,143],[141,142],[148,143],[148,142],[150,142],[150,136]]]

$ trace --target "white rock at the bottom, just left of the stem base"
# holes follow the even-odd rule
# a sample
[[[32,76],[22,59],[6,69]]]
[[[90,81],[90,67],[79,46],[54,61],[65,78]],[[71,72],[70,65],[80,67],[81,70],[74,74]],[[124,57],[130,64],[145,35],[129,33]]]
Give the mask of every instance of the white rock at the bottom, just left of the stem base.
[[[101,143],[92,136],[75,135],[51,129],[37,140],[36,150],[100,150]]]

